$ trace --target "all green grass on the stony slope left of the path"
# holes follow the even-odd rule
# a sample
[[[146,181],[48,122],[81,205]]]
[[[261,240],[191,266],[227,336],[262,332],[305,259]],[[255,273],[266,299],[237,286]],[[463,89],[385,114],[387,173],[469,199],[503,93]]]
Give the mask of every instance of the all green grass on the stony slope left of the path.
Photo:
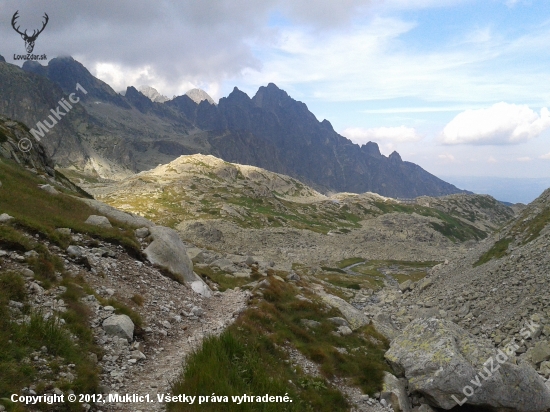
[[[68,227],[84,234],[92,241],[101,239],[125,246],[129,251],[139,251],[139,245],[131,228],[112,222],[112,229],[98,228],[83,222],[94,211],[69,194],[51,195],[38,188],[46,183],[36,175],[13,162],[0,161],[0,213],[15,217],[9,223],[0,224],[0,248],[19,253],[34,251],[34,257],[25,262],[35,273],[35,281],[46,289],[65,287],[59,292],[67,310],[60,314],[64,325],[52,317],[45,320],[27,302],[23,277],[17,271],[0,272],[0,404],[8,410],[22,410],[6,398],[20,393],[23,387],[34,385],[39,394],[58,387],[75,393],[95,393],[99,383],[99,370],[89,354],[101,356],[101,349],[93,342],[89,328],[89,310],[80,300],[93,293],[84,279],[70,277],[63,261],[52,254],[47,242],[60,247],[70,243],[68,237],[55,231]],[[75,194],[77,195],[77,194]],[[34,236],[31,236],[34,235]],[[0,259],[0,266],[3,266]],[[20,313],[9,308],[9,301],[24,303]],[[117,313],[127,313],[139,324],[140,319],[124,305],[109,302],[117,307]],[[42,347],[47,352],[41,351]],[[41,365],[34,357],[46,359]],[[67,369],[67,365],[74,364]],[[75,375],[72,382],[55,381],[60,371]],[[48,405],[38,405],[40,410],[52,410]],[[82,410],[78,403],[59,406],[56,410]]]

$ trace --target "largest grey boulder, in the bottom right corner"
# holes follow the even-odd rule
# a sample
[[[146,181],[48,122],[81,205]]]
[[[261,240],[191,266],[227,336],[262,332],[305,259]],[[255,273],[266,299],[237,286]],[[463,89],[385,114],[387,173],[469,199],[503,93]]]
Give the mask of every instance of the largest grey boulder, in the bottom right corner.
[[[492,344],[458,325],[436,318],[417,319],[386,352],[394,371],[408,379],[409,391],[431,406],[457,404],[493,410],[544,411],[550,389],[525,362],[508,362],[515,347],[495,351]]]

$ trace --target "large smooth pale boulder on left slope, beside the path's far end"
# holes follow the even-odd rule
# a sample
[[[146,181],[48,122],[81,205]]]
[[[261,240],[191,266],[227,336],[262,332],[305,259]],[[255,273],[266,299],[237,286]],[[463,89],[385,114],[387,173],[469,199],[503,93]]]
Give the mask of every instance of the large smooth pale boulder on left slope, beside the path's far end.
[[[178,232],[164,226],[153,226],[149,228],[149,231],[153,241],[143,251],[149,262],[169,271],[180,282],[191,284],[195,292],[202,295],[207,294],[205,291],[209,288],[193,272],[193,263],[187,256],[185,245]],[[195,282],[202,283],[202,285]]]

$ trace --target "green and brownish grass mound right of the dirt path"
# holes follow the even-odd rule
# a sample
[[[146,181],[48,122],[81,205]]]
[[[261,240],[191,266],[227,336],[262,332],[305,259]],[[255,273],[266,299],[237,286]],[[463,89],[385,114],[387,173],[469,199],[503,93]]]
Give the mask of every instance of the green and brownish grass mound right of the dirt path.
[[[169,405],[170,411],[347,411],[345,398],[325,378],[346,377],[373,394],[380,390],[385,339],[372,327],[364,327],[347,337],[331,334],[334,324],[328,317],[341,316],[324,305],[296,299],[298,290],[269,277],[271,286],[262,289],[265,300],[254,301],[221,336],[206,340],[203,347],[187,359],[186,368],[174,383],[174,394],[211,395],[288,395],[288,404],[202,404]],[[305,293],[305,292],[302,292]],[[308,295],[315,299],[313,295]],[[315,330],[301,319],[321,322]],[[376,339],[373,343],[372,339]],[[304,375],[283,360],[283,346],[294,346],[320,366],[323,378]],[[335,348],[346,348],[341,354]],[[352,349],[359,348],[353,351]],[[293,383],[289,382],[292,381]],[[194,408],[194,409],[193,409]]]

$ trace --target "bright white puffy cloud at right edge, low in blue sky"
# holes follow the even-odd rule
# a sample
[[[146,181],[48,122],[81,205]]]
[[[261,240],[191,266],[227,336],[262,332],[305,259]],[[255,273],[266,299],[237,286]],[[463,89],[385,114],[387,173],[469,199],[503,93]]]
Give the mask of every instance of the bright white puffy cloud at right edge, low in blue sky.
[[[488,109],[466,110],[442,133],[445,144],[517,144],[533,139],[550,127],[546,107],[540,115],[526,105],[497,103]]]

